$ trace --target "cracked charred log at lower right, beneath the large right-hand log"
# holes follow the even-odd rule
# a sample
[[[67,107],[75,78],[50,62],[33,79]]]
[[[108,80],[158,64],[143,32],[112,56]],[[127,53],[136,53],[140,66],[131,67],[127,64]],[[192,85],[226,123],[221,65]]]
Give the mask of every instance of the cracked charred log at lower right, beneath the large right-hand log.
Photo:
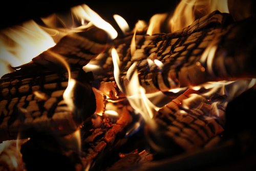
[[[206,99],[198,93],[189,89],[159,110],[155,129],[149,125],[146,130],[154,149],[168,155],[195,151],[224,131],[225,108],[213,105],[223,97]]]

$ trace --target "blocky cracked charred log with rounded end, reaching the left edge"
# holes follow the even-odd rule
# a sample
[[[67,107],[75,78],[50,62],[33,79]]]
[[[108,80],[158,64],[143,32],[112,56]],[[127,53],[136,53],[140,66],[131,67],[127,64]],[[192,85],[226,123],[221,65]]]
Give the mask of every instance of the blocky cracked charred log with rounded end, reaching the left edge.
[[[35,131],[70,134],[96,109],[90,73],[81,69],[71,72],[75,81],[67,92],[69,101],[63,99],[69,84],[68,73],[14,73],[0,80],[0,141],[16,139],[18,134],[19,138],[26,138]]]

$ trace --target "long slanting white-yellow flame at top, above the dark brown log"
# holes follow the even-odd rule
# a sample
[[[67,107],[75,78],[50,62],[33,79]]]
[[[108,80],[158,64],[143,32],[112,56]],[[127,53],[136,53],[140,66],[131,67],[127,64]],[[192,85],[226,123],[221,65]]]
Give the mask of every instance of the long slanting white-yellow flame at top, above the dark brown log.
[[[76,13],[76,15],[81,19],[88,20],[94,26],[106,31],[110,35],[111,39],[115,39],[117,37],[117,31],[87,5],[83,4],[81,6],[74,7],[72,8],[72,12]]]

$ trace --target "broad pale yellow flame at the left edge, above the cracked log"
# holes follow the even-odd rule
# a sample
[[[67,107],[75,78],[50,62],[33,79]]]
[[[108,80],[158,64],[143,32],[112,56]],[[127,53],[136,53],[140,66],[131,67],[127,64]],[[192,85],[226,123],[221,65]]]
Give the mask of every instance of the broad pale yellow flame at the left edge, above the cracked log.
[[[32,20],[1,30],[1,75],[9,72],[8,65],[20,66],[55,45],[53,39]]]

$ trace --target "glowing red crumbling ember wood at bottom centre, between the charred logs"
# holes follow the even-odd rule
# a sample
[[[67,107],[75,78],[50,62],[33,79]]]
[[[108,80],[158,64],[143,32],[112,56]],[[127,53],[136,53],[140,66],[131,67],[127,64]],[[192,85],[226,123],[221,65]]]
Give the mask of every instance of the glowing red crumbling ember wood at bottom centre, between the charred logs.
[[[85,168],[88,165],[97,168],[103,157],[125,142],[123,136],[127,126],[132,123],[133,111],[127,102],[113,105],[119,116],[95,115],[90,120],[91,123],[84,123],[81,128],[82,164]]]

